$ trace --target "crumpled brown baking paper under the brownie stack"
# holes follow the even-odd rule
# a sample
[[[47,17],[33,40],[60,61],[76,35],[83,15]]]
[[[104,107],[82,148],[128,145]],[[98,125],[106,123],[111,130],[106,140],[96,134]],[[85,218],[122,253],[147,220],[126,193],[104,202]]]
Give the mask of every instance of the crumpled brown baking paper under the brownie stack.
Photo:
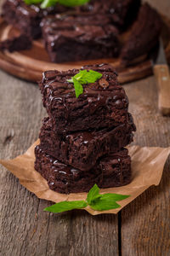
[[[85,200],[87,193],[77,193],[64,195],[52,191],[48,187],[47,181],[34,169],[34,148],[39,143],[37,140],[31,148],[28,148],[25,154],[19,155],[14,160],[0,160],[0,163],[5,166],[14,176],[18,177],[20,183],[38,198],[48,201],[76,201]],[[90,207],[84,208],[93,215],[101,213],[117,213],[127,204],[133,201],[138,195],[151,185],[158,185],[161,181],[163,167],[170,154],[169,148],[141,148],[139,146],[128,147],[129,154],[132,158],[132,182],[126,186],[111,189],[101,189],[101,193],[118,193],[122,195],[131,195],[126,200],[120,201],[121,205],[118,209],[109,211],[94,211]]]

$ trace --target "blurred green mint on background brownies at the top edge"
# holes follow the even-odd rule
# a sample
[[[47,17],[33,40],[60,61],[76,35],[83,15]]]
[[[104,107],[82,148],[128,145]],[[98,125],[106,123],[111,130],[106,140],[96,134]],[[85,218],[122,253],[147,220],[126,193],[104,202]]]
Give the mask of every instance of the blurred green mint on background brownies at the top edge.
[[[80,6],[88,3],[90,0],[24,0],[26,4],[37,4],[41,3],[41,8],[46,9],[48,7],[54,6],[56,3],[64,5],[66,7]]]

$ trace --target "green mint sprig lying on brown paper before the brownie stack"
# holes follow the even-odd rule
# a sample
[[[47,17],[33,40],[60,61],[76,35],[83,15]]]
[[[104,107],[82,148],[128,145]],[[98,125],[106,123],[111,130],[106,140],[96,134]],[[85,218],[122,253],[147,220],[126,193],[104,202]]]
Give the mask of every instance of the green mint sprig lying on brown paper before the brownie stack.
[[[88,206],[96,211],[111,210],[121,207],[116,201],[122,201],[129,196],[113,193],[99,194],[99,187],[95,184],[89,190],[86,201],[61,201],[51,207],[45,208],[43,211],[57,213],[71,211],[73,209],[83,209]]]

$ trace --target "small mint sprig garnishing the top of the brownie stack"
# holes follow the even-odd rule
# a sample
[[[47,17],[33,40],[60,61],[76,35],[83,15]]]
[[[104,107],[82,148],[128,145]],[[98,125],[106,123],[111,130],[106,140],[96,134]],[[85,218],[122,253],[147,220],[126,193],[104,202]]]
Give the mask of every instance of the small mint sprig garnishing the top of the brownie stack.
[[[92,84],[98,79],[101,79],[102,73],[94,70],[80,70],[74,77],[67,79],[67,82],[73,83],[75,88],[76,97],[80,96],[83,92],[82,84]]]

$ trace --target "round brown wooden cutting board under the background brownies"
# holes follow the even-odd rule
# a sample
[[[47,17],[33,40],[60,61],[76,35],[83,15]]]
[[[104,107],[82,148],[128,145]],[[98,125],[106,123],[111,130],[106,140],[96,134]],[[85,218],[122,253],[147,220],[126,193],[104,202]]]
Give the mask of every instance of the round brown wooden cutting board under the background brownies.
[[[162,16],[162,38],[167,55],[167,61],[170,63],[170,20]],[[125,41],[131,29],[122,34],[121,40]],[[0,19],[0,41],[16,36],[19,32],[13,26],[8,25],[2,18]],[[42,78],[42,72],[50,69],[67,70],[72,68],[80,68],[87,64],[111,63],[119,73],[119,82],[124,84],[152,74],[152,66],[147,55],[141,56],[138,60],[133,61],[133,66],[122,67],[121,60],[117,59],[102,59],[93,61],[77,61],[66,63],[52,63],[47,51],[44,49],[42,41],[33,42],[33,47],[29,50],[15,51],[0,51],[0,68],[7,73],[10,73],[20,79],[26,79],[32,82],[37,82]]]

